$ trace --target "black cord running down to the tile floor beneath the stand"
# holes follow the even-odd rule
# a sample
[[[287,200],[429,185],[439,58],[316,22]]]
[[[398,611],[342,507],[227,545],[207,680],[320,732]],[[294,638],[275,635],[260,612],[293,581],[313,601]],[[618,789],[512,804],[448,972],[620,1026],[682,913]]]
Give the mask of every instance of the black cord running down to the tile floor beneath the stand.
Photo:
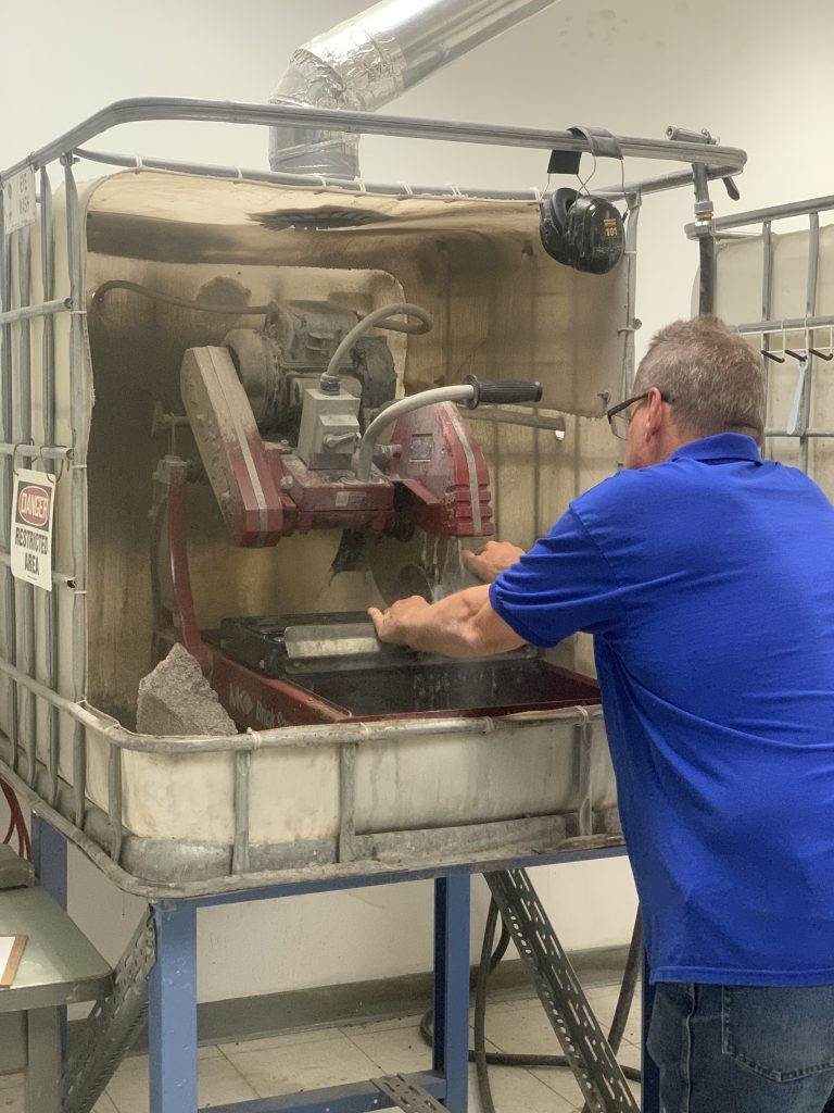
[[[532,1055],[517,1052],[489,1052],[486,1050],[486,1005],[487,1005],[487,983],[489,975],[502,961],[509,946],[509,932],[506,924],[502,923],[502,934],[498,945],[493,952],[493,939],[498,920],[498,907],[494,900],[489,903],[487,923],[484,932],[484,946],[481,947],[480,962],[475,975],[470,977],[470,989],[475,989],[475,1046],[469,1048],[469,1062],[475,1064],[480,1092],[480,1102],[484,1113],[496,1113],[489,1086],[490,1066],[525,1066],[525,1067],[570,1067],[570,1063],[564,1055]],[[628,957],[623,974],[623,982],[619,987],[617,1004],[614,1009],[608,1033],[608,1043],[616,1054],[623,1041],[623,1033],[628,1021],[628,1013],[634,998],[634,991],[637,984],[641,962],[643,957],[643,930],[641,926],[639,912],[634,922],[632,942],[628,947]],[[420,1018],[420,1036],[430,1046],[434,1045],[434,1008],[429,1008]],[[633,1066],[625,1066],[620,1063],[620,1070],[626,1078],[633,1082],[642,1080],[641,1072]]]

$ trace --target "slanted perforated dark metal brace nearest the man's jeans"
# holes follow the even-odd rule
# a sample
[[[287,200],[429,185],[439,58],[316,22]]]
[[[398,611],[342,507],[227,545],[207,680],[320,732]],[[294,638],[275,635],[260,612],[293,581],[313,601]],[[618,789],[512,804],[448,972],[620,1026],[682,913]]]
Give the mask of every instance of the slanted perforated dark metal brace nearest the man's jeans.
[[[639,1113],[608,1041],[524,869],[484,875],[590,1113]]]

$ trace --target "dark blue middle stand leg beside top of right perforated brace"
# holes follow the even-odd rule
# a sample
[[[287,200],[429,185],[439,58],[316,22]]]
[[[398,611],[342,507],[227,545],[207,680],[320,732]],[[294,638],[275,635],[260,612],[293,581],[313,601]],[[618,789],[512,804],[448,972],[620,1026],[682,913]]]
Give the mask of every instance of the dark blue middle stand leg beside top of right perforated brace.
[[[466,1113],[469,1082],[468,874],[435,881],[435,1046],[433,1067],[446,1075],[444,1105]]]

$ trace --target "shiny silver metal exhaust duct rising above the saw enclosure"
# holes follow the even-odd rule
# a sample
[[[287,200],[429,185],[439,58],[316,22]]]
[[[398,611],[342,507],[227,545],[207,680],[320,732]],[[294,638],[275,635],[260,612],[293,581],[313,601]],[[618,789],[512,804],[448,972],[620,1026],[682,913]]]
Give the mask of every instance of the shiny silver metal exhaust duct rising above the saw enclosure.
[[[299,47],[269,101],[373,111],[554,2],[383,0]],[[269,165],[291,174],[355,178],[359,137],[271,128]]]

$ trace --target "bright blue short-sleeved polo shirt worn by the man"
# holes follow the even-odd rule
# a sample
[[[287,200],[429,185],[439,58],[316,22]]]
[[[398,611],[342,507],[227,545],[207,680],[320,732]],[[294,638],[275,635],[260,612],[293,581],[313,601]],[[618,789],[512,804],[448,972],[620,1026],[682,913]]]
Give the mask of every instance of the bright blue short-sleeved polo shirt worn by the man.
[[[834,983],[834,509],[725,433],[573,502],[490,588],[594,634],[653,979]]]

